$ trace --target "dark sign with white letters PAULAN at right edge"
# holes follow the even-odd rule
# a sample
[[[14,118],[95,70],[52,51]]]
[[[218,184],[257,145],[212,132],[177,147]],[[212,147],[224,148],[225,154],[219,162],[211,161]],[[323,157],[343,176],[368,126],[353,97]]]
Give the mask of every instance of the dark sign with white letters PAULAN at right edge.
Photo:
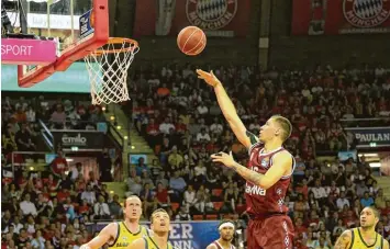
[[[356,147],[390,147],[390,127],[345,128]]]

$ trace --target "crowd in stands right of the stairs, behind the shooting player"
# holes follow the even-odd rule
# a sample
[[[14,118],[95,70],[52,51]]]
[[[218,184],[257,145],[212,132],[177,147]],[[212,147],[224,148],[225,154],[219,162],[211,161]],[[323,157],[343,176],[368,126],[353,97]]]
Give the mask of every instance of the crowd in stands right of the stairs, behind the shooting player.
[[[337,151],[353,146],[341,120],[390,116],[387,69],[213,69],[252,133],[257,134],[272,114],[293,125],[285,147],[296,157],[297,169],[285,203],[296,224],[297,248],[332,248],[345,228],[358,226],[359,212],[368,205],[382,211],[378,229],[389,238],[390,202],[371,168],[364,157],[337,158]],[[127,181],[129,192],[143,199],[144,213],[165,207],[179,220],[221,216],[247,220],[243,179],[210,161],[211,154],[232,150],[246,165],[247,154],[221,115],[213,90],[197,79],[194,67],[144,68],[130,87],[134,126],[158,156],[149,165],[141,159]],[[335,159],[319,160],[317,152]]]

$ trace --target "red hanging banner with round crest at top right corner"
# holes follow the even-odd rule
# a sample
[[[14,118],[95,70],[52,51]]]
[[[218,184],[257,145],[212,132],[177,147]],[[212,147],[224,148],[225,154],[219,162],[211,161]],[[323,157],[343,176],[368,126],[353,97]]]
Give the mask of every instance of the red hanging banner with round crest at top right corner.
[[[293,35],[390,33],[389,0],[293,0]]]

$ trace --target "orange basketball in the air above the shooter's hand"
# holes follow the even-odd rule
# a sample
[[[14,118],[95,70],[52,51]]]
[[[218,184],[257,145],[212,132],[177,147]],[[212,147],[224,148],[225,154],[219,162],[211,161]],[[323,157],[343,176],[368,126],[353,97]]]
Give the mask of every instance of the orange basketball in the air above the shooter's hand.
[[[187,26],[182,29],[177,36],[177,45],[179,49],[190,56],[202,53],[205,47],[205,34],[198,26]]]

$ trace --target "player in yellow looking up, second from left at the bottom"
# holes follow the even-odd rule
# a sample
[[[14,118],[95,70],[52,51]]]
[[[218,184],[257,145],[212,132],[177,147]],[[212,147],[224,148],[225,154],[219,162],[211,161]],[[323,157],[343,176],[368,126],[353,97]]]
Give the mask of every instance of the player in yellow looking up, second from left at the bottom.
[[[151,228],[153,236],[135,240],[127,249],[174,249],[168,242],[170,218],[165,210],[158,208],[152,213]]]

